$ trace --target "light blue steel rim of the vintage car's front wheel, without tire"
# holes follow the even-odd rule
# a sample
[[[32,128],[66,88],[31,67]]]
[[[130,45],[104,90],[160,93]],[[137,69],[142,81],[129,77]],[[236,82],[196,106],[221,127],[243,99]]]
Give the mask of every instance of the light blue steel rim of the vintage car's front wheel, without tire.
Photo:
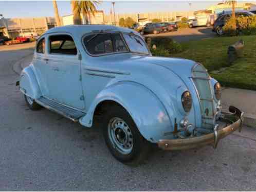
[[[133,149],[133,135],[130,127],[123,119],[112,118],[108,122],[108,137],[113,146],[121,154],[129,154]]]

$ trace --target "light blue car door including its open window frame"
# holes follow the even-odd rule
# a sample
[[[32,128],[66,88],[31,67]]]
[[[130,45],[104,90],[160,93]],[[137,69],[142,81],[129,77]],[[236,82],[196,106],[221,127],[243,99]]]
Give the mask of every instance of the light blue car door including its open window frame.
[[[74,38],[65,33],[49,35],[47,79],[49,99],[84,110],[79,51]]]

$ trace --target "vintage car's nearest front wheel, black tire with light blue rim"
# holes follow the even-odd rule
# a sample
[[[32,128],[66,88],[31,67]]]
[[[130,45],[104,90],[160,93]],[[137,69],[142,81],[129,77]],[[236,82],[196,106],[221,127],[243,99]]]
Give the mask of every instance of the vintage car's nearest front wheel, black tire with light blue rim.
[[[103,123],[106,145],[117,160],[130,165],[143,162],[150,150],[150,143],[141,136],[133,119],[122,106],[112,106]]]

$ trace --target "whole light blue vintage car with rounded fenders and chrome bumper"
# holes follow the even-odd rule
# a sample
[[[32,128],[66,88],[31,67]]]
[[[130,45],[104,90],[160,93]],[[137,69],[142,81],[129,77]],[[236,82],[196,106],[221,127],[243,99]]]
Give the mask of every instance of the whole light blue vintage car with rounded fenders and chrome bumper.
[[[138,163],[153,144],[183,150],[241,130],[243,112],[221,113],[221,86],[199,63],[153,57],[141,35],[107,25],[45,32],[17,82],[31,110],[42,106],[85,127],[99,116],[119,161]]]

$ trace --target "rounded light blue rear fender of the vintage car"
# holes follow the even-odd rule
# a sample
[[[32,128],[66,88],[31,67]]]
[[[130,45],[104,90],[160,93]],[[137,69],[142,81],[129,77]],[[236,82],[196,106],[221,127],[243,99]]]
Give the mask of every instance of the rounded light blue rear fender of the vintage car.
[[[24,95],[33,99],[42,96],[38,80],[35,77],[32,66],[28,66],[22,70],[20,77],[20,90]]]

